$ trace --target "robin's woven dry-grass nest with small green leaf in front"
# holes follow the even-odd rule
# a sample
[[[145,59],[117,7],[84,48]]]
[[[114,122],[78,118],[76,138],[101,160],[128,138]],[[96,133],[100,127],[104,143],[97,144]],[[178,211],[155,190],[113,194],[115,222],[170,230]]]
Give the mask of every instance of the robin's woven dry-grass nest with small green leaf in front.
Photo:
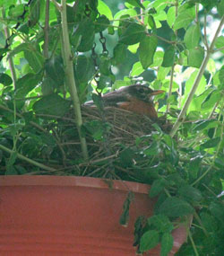
[[[67,118],[73,119],[73,112]],[[156,130],[155,124],[164,132],[171,128],[164,117],[152,120],[147,116],[113,107],[100,111],[96,107],[82,106],[82,120],[82,134],[87,139],[91,160],[117,154],[124,147],[135,146],[137,137],[149,135]],[[71,122],[67,126],[74,128]],[[71,137],[65,131],[66,152],[72,155],[81,154],[77,131],[72,134],[75,136]]]

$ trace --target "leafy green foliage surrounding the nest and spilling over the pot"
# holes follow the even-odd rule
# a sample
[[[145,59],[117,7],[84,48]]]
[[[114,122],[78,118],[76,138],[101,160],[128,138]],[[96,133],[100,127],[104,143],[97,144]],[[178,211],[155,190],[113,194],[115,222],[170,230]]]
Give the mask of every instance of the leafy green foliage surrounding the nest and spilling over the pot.
[[[158,108],[174,127],[168,135],[155,125],[134,146],[121,142],[118,154],[108,150],[106,159],[116,158],[102,176],[151,184],[149,196],[158,197],[154,216],[136,221],[139,252],[161,243],[161,255],[168,255],[175,220],[193,214],[188,242],[177,255],[221,255],[224,0],[117,3],[124,8],[115,13],[101,0],[0,1],[0,172],[90,174],[77,167],[85,163],[81,149],[67,151],[64,138],[80,136],[83,151],[89,133],[107,147],[110,124],[100,94],[149,81],[167,92],[158,96]],[[72,77],[66,61],[72,61]],[[119,69],[126,70],[124,79],[117,79]],[[92,91],[102,120],[80,123],[79,130],[76,117],[76,129],[68,113],[73,108],[77,114]],[[132,199],[125,202],[123,224]]]

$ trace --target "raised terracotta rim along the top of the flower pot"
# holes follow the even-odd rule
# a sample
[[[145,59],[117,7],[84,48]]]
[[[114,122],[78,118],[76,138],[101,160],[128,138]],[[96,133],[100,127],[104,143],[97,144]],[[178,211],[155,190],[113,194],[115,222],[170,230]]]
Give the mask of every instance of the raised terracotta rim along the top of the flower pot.
[[[4,175],[0,176],[1,186],[59,186],[59,187],[89,187],[109,189],[110,181],[113,190],[124,190],[148,194],[150,186],[134,181],[108,180],[81,176],[53,175]]]

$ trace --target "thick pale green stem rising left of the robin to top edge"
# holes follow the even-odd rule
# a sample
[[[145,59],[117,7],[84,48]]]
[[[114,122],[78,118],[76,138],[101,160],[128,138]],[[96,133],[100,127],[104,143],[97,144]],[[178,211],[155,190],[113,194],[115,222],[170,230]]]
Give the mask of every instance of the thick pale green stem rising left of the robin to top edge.
[[[73,100],[73,111],[76,119],[76,125],[79,132],[82,155],[84,159],[88,159],[88,150],[85,137],[81,135],[82,127],[82,114],[81,114],[81,105],[77,92],[77,88],[74,81],[73,75],[73,57],[71,52],[71,46],[69,42],[68,28],[67,28],[67,14],[66,14],[66,0],[61,2],[62,9],[61,18],[62,18],[62,32],[63,32],[63,41],[64,41],[64,65],[65,65],[65,84],[67,88],[70,88],[71,97]]]

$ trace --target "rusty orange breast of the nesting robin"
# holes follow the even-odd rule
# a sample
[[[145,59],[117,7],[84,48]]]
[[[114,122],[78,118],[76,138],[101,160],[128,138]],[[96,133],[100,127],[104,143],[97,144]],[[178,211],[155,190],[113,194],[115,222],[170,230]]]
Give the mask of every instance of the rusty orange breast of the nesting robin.
[[[129,110],[137,114],[146,115],[151,119],[157,119],[157,111],[155,110],[153,103],[147,103],[132,99],[130,102],[120,102],[118,103],[119,108],[124,110]]]

